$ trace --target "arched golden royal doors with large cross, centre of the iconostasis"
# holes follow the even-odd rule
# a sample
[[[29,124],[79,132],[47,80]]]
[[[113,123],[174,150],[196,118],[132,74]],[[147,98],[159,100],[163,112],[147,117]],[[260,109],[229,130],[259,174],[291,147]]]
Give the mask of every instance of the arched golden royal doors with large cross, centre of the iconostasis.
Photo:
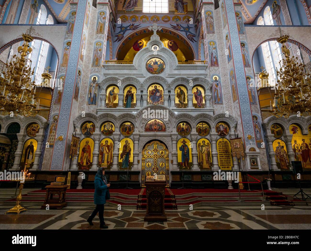
[[[148,143],[142,150],[142,187],[145,177],[154,173],[166,175],[166,186],[169,186],[169,151],[159,141]]]

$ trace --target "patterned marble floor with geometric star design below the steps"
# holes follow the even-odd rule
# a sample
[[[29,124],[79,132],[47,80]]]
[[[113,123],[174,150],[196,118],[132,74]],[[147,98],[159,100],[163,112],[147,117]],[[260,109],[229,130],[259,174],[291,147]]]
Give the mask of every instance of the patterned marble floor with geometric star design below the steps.
[[[99,218],[90,226],[86,219],[94,207],[72,206],[41,210],[26,206],[19,215],[4,214],[0,206],[0,229],[99,229]],[[167,222],[144,222],[144,210],[105,207],[109,229],[311,229],[310,206],[204,206],[193,210],[166,210]]]

